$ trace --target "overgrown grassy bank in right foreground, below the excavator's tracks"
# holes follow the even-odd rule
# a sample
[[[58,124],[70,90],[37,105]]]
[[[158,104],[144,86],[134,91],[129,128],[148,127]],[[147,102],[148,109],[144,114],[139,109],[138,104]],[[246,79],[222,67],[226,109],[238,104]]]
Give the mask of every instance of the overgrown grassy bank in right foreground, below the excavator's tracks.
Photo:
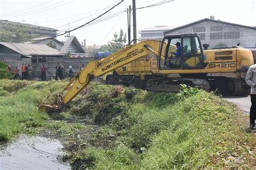
[[[102,91],[104,87],[93,88]],[[71,153],[72,166],[82,169],[251,167],[252,164],[247,164],[250,152],[244,153],[248,146],[240,144],[250,143],[250,151],[255,151],[255,134],[248,134],[239,124],[237,108],[218,96],[197,89],[179,94],[124,89],[119,96],[110,97],[109,94],[100,94],[106,100],[98,94],[89,94],[93,98],[84,96],[84,100],[81,97],[76,107],[83,102],[95,106],[84,114],[96,115],[95,118],[102,115],[108,119],[96,140],[104,142],[106,137],[114,136],[113,144],[105,149],[97,145],[79,148]],[[133,153],[131,161],[123,161],[120,148],[126,158],[131,158]],[[242,161],[230,160],[226,165],[223,160],[230,159],[233,153]]]

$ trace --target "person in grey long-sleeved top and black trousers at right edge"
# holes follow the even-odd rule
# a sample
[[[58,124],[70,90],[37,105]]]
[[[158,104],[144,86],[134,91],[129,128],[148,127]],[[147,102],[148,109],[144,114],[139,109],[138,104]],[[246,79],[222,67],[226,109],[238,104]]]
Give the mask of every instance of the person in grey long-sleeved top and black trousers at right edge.
[[[246,76],[246,83],[251,86],[251,109],[250,109],[250,128],[256,129],[256,64],[249,67]]]

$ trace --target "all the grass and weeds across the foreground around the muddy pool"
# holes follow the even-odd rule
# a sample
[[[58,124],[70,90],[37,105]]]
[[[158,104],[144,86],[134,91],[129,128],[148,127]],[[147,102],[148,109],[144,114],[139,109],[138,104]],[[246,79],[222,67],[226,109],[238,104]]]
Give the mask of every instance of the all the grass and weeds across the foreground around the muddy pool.
[[[17,88],[19,82],[25,85]],[[51,132],[64,141],[63,159],[76,169],[256,166],[248,117],[218,96],[185,87],[181,93],[148,93],[91,83],[63,112],[39,112],[38,104],[66,83],[1,81],[0,140]]]

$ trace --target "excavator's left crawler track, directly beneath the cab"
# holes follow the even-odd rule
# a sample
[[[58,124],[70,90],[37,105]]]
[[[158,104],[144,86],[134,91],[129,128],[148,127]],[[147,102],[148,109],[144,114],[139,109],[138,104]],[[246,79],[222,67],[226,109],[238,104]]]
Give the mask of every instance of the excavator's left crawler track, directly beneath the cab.
[[[205,79],[191,79],[183,77],[164,77],[147,81],[147,91],[173,91],[181,90],[180,84],[186,84],[190,87],[197,87],[210,91],[210,84]]]

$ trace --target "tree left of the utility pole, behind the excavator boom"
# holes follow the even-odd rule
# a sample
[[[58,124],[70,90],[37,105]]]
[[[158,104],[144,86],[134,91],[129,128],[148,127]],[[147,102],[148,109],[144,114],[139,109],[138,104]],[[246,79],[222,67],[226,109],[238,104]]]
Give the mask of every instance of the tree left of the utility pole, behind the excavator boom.
[[[126,33],[124,34],[124,31],[120,29],[120,34],[118,37],[118,34],[115,32],[113,34],[114,39],[112,41],[107,42],[107,45],[104,45],[97,49],[94,53],[96,52],[117,52],[120,48],[125,46],[126,43]]]

